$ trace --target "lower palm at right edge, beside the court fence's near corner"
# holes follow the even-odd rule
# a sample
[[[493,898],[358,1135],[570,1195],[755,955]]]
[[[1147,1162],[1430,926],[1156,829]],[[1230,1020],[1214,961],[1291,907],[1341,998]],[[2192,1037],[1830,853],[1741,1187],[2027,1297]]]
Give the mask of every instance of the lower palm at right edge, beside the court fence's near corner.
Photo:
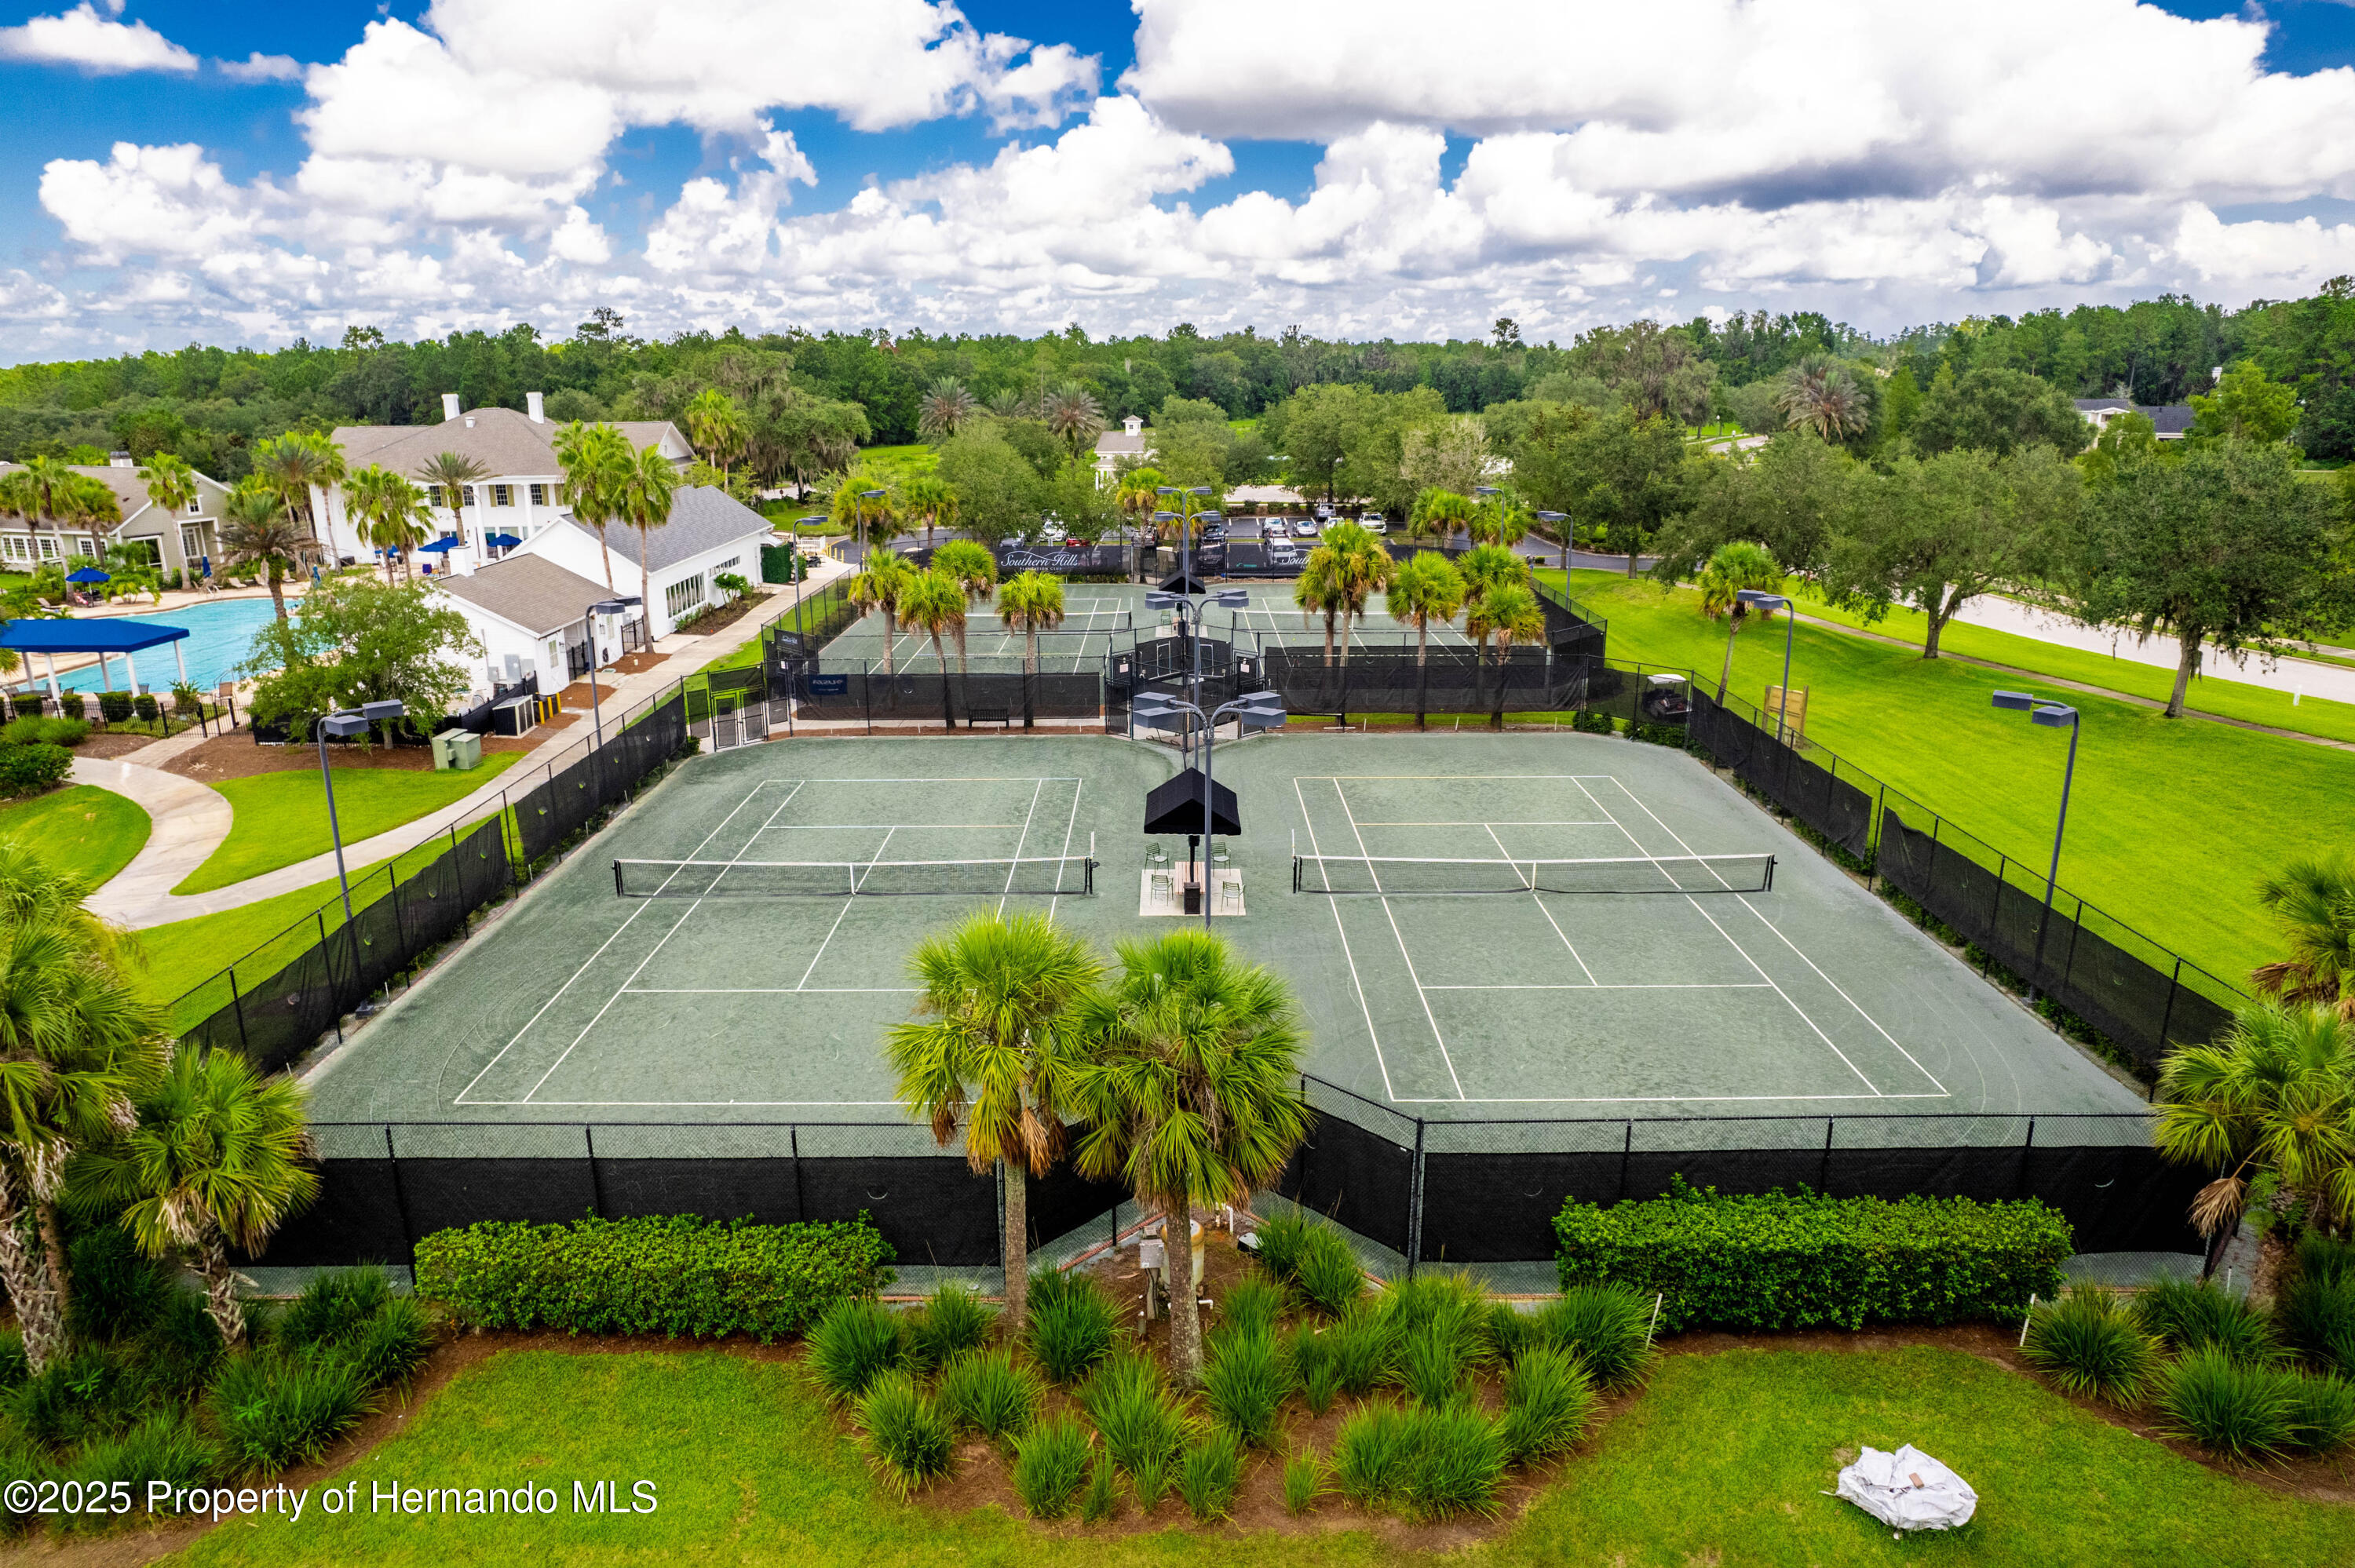
[[[2211,1045],[2160,1069],[2160,1154],[2218,1175],[2193,1201],[2214,1236],[2240,1222],[2251,1184],[2273,1177],[2277,1208],[2339,1229],[2355,1217],[2355,1026],[2329,1008],[2261,998]],[[2287,1227],[2266,1236],[2268,1253]]]

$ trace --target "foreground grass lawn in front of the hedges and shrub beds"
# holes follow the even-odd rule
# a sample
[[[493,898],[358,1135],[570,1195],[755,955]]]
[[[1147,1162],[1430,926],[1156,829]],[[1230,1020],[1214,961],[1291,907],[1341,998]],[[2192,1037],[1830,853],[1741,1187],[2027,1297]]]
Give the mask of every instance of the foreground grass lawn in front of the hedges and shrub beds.
[[[1981,1507],[1971,1526],[1900,1544],[1820,1495],[1856,1443],[1905,1441],[1973,1483]],[[624,1495],[652,1481],[657,1511],[575,1514],[575,1481],[612,1481]],[[1107,1537],[1076,1526],[1041,1530],[996,1509],[900,1504],[869,1481],[798,1366],[721,1351],[502,1351],[455,1377],[398,1436],[330,1483],[358,1483],[358,1514],[325,1514],[313,1488],[299,1523],[224,1523],[186,1561],[1326,1568],[1401,1556],[1371,1528],[1246,1535],[1173,1526]],[[556,1490],[556,1511],[370,1511],[379,1486],[518,1483]],[[1133,1507],[1126,1488],[1121,1507]],[[1326,1511],[1342,1519],[1335,1504]],[[1500,1568],[1915,1559],[2303,1568],[2355,1559],[2355,1509],[2221,1476],[1959,1351],[1733,1351],[1665,1361],[1524,1519],[1460,1556]]]

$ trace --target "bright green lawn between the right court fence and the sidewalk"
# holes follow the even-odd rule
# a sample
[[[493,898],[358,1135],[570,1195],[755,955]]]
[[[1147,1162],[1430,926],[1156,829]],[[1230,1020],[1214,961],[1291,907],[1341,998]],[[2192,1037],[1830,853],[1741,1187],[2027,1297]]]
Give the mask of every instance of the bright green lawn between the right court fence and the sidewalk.
[[[1691,591],[1663,596],[1613,572],[1571,577],[1571,591],[1611,619],[1611,657],[1717,678],[1724,624],[1705,619]],[[1736,638],[1731,695],[1757,704],[1780,676],[1780,624]],[[2021,678],[1802,624],[1792,685],[1809,687],[1809,739],[2044,866],[2068,735],[1988,706],[1995,687]],[[2061,885],[2244,984],[2277,956],[2258,878],[2289,855],[2355,845],[2346,810],[2355,758],[2110,697],[2070,702],[2084,739]]]

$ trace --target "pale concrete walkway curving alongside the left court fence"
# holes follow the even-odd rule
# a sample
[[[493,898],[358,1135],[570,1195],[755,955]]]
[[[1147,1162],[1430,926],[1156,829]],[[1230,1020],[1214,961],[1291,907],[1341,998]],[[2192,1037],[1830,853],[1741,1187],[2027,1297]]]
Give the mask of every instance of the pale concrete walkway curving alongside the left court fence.
[[[754,629],[761,622],[772,619],[780,607],[791,607],[798,593],[824,589],[836,577],[848,574],[848,570],[850,567],[831,560],[815,563],[808,584],[784,589],[763,600],[758,619],[749,624],[735,622],[732,626],[723,626],[704,638],[662,638],[655,643],[655,652],[669,657],[650,671],[636,676],[615,676],[603,671],[605,680],[598,687],[598,702],[605,706],[608,718],[619,718],[631,704],[669,690],[681,676],[692,676],[711,659],[732,652],[754,636]],[[374,838],[346,843],[344,866],[358,871],[360,866],[414,850],[429,838],[447,833],[455,824],[492,810],[502,793],[518,786],[532,789],[532,775],[558,753],[577,746],[586,735],[589,730],[584,725],[551,730],[549,739],[528,751],[520,763],[509,765],[499,772],[499,777],[490,779],[483,789],[476,789],[462,800],[455,800],[436,812],[426,812],[414,822],[386,829]],[[203,742],[203,737],[198,737],[198,742]],[[160,753],[162,746],[186,749],[184,737],[174,735],[170,742],[141,746],[132,753],[139,760],[75,760],[73,765],[75,784],[97,784],[130,796],[146,808],[148,817],[155,819],[155,831],[151,833],[146,850],[141,850],[132,864],[127,864],[89,897],[92,911],[115,921],[118,925],[144,930],[148,925],[170,925],[172,921],[188,921],[193,916],[219,913],[224,909],[243,909],[245,904],[259,904],[261,899],[311,888],[313,883],[323,883],[334,876],[334,850],[327,850],[323,855],[313,855],[311,859],[299,859],[292,866],[278,866],[276,871],[250,876],[243,883],[231,883],[228,888],[174,895],[172,888],[203,866],[205,859],[221,848],[221,841],[228,838],[233,815],[228,810],[228,800],[219,791],[198,784],[195,779],[184,779],[177,772],[162,772],[160,768],[146,765],[146,758],[151,756],[155,756],[155,760],[170,758],[170,753]]]

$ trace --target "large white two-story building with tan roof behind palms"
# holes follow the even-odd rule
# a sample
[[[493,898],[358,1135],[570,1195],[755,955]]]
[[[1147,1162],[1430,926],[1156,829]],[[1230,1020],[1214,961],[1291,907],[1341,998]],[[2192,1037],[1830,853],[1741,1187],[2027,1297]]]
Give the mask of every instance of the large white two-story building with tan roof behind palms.
[[[426,464],[443,452],[471,457],[483,466],[483,480],[447,487],[429,485],[429,501],[445,539],[457,539],[457,549],[443,553],[436,572],[466,572],[495,556],[485,544],[492,534],[532,539],[565,516],[556,499],[563,485],[563,469],[556,461],[556,431],[546,417],[542,393],[525,393],[525,407],[478,407],[459,410],[457,393],[443,393],[440,424],[346,424],[334,431],[344,447],[344,464],[365,469],[370,464],[403,473],[424,483]],[[619,419],[615,421],[633,447],[662,447],[662,454],[685,466],[695,447],[669,419]],[[360,542],[346,506],[344,490],[313,490],[313,506],[327,532],[327,544],[339,558],[370,560],[372,551]]]

